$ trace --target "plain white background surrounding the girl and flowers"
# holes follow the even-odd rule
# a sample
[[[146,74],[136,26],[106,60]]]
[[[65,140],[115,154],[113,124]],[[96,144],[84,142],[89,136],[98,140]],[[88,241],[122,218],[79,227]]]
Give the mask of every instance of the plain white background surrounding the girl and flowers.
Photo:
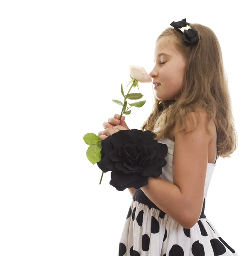
[[[83,136],[120,113],[129,65],[150,73],[154,44],[183,18],[222,47],[239,145],[219,158],[205,214],[239,256],[247,252],[247,14],[244,1],[0,2],[0,255],[118,253],[131,195],[86,158]],[[129,88],[129,87],[128,87]],[[141,84],[140,126],[154,104]],[[131,92],[138,92],[132,89]]]

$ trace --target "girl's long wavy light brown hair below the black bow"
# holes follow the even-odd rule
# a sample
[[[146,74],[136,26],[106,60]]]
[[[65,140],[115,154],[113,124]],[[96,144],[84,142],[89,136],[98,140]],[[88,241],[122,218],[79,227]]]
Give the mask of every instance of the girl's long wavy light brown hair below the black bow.
[[[180,131],[185,131],[185,117],[191,112],[197,112],[199,117],[193,131],[200,126],[199,108],[207,114],[208,123],[214,119],[217,127],[218,157],[231,157],[237,149],[237,132],[234,127],[234,117],[231,109],[231,98],[228,90],[228,79],[225,75],[221,47],[214,32],[207,26],[191,23],[190,27],[198,31],[202,37],[195,44],[187,45],[182,41],[182,33],[168,27],[157,38],[156,43],[166,37],[169,44],[187,59],[183,84],[179,99],[158,100],[155,97],[152,113],[142,124],[141,130],[154,131],[155,140],[168,138],[175,123]],[[194,119],[192,119],[194,122]],[[188,131],[188,132],[190,132]]]

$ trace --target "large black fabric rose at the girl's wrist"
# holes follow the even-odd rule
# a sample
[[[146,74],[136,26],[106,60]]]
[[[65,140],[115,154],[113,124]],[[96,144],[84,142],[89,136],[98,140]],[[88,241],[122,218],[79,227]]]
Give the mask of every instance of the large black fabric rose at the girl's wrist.
[[[155,136],[152,131],[120,130],[102,141],[97,166],[103,172],[111,171],[111,186],[119,191],[138,189],[148,184],[148,177],[162,174],[168,146],[154,140]]]

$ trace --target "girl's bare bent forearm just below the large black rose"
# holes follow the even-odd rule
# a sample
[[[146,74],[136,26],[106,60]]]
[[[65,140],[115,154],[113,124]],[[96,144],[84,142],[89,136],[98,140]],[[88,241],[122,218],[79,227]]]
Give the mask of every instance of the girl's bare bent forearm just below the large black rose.
[[[181,226],[188,228],[191,221],[187,204],[178,186],[161,177],[149,177],[148,184],[141,187],[145,195]]]

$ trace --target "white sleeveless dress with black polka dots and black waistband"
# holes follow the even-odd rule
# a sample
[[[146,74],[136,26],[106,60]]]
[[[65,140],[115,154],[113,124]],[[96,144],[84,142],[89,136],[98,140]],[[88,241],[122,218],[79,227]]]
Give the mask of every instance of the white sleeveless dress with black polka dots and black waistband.
[[[168,145],[167,164],[162,168],[160,177],[173,183],[175,142],[170,139],[159,142]],[[120,238],[118,256],[238,256],[204,214],[215,166],[216,160],[215,163],[208,163],[202,213],[191,229],[182,227],[153,204],[141,189],[135,189]]]

